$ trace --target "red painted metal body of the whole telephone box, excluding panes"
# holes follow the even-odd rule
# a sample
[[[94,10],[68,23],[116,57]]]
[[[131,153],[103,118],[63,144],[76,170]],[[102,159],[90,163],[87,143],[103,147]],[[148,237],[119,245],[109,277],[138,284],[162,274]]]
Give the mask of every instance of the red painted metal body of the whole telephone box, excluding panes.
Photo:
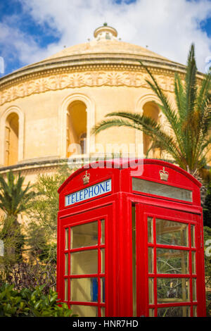
[[[139,172],[134,168],[135,163],[139,163]],[[105,168],[106,163],[98,163],[98,168],[81,168],[73,173],[68,180],[58,190],[60,196],[58,212],[58,266],[57,266],[57,291],[60,300],[65,298],[64,279],[68,279],[68,303],[70,302],[70,279],[82,278],[84,275],[65,276],[64,253],[70,256],[75,251],[86,251],[96,249],[96,246],[88,248],[65,250],[64,238],[65,227],[71,228],[72,225],[88,223],[93,220],[98,221],[98,233],[101,233],[101,223],[99,220],[106,219],[106,244],[101,245],[101,237],[98,237],[98,273],[94,275],[85,275],[87,277],[96,276],[98,280],[104,276],[100,273],[101,254],[99,249],[106,247],[106,304],[82,302],[83,305],[97,306],[98,315],[101,315],[101,307],[106,306],[106,316],[133,316],[133,268],[132,268],[132,204],[136,205],[136,299],[137,316],[148,316],[148,247],[165,248],[165,245],[148,244],[147,238],[147,216],[153,217],[153,226],[155,234],[155,217],[159,216],[167,220],[179,220],[190,225],[196,225],[196,244],[197,248],[182,247],[184,251],[196,251],[196,275],[191,273],[191,256],[189,256],[190,275],[177,275],[177,277],[187,276],[190,279],[190,289],[192,289],[192,280],[197,277],[197,301],[193,303],[191,294],[191,316],[193,314],[193,305],[198,306],[198,316],[205,316],[205,281],[203,265],[203,220],[202,208],[200,206],[200,183],[190,174],[171,163],[158,160],[134,160],[134,163],[120,160],[110,161],[110,168]],[[107,162],[108,165],[108,162]],[[143,166],[142,166],[143,165]],[[99,168],[100,167],[100,168]],[[104,167],[104,168],[103,168]],[[162,168],[168,172],[167,182],[160,179],[159,172]],[[89,183],[85,184],[82,177],[85,173],[89,174]],[[189,189],[193,192],[193,201],[179,201],[165,196],[156,196],[155,194],[146,194],[135,192],[132,189],[132,177],[150,180],[158,184],[171,185]],[[86,201],[77,201],[71,206],[65,206],[65,196],[73,192],[79,192],[82,189],[99,184],[104,180],[111,180],[112,188],[110,192],[94,196]],[[155,238],[154,238],[155,239]],[[70,240],[70,237],[69,237]],[[154,254],[156,257],[156,249]],[[171,246],[172,249],[178,249],[178,246]],[[157,302],[156,282],[158,274],[156,273],[156,262],[154,259],[154,273],[150,276],[154,279],[155,298],[154,304],[150,307],[154,309],[155,316],[158,307],[167,306],[187,306],[186,303],[179,304],[159,304]],[[68,268],[70,273],[70,258]],[[175,275],[162,275],[162,277],[176,277]],[[101,285],[98,282],[99,300]]]

